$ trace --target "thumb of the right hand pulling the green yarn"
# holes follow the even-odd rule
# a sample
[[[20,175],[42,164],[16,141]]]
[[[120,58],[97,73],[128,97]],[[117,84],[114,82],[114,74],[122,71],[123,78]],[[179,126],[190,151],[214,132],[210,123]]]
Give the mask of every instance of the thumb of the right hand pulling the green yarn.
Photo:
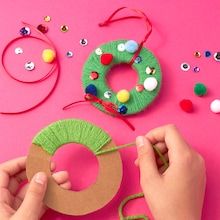
[[[157,168],[155,154],[150,141],[144,137],[139,136],[136,138],[138,164],[140,167],[140,182],[143,187],[148,182],[160,178]]]

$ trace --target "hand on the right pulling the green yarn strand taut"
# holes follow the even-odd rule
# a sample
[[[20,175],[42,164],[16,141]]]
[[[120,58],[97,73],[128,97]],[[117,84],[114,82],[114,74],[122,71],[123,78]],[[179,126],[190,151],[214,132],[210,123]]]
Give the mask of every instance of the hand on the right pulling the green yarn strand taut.
[[[136,144],[140,183],[155,220],[200,220],[206,183],[203,158],[173,125],[137,137]],[[169,159],[165,172],[153,144]]]

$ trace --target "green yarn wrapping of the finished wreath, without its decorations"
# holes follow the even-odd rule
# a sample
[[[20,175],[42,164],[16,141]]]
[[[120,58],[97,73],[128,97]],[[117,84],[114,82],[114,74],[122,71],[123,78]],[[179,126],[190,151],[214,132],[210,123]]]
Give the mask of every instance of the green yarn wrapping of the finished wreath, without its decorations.
[[[145,109],[158,95],[161,87],[161,69],[160,65],[155,58],[155,56],[146,48],[142,48],[140,51],[139,56],[142,58],[142,61],[140,63],[133,63],[132,68],[134,68],[139,76],[138,79],[138,84],[144,84],[144,80],[147,77],[155,77],[156,80],[158,81],[158,85],[155,90],[149,92],[147,90],[143,90],[142,92],[137,92],[135,88],[133,88],[130,91],[130,99],[126,103],[120,103],[117,100],[116,93],[114,93],[107,85],[106,82],[106,75],[108,71],[115,65],[120,64],[120,63],[129,63],[129,61],[132,59],[134,54],[128,53],[126,51],[120,52],[117,49],[118,44],[120,43],[125,43],[127,40],[117,40],[117,41],[112,41],[106,44],[103,44],[100,46],[101,50],[103,53],[111,53],[114,56],[114,59],[110,65],[102,65],[100,63],[100,56],[97,55],[94,52],[89,56],[87,59],[84,68],[83,68],[83,75],[82,75],[82,82],[83,82],[83,87],[86,88],[89,84],[93,84],[97,88],[97,96],[105,101],[110,101],[115,103],[117,106],[124,104],[128,110],[126,115],[131,115],[135,114],[137,112],[142,111]],[[153,67],[155,68],[155,74],[153,75],[148,75],[146,74],[145,70],[146,67]],[[96,80],[91,80],[90,79],[90,73],[96,71],[99,73],[99,78]],[[123,88],[122,88],[123,89]],[[112,96],[111,98],[107,99],[104,97],[104,93],[106,91],[111,91]],[[103,108],[101,105],[97,103],[93,103],[94,106],[99,108],[100,110],[103,111]]]

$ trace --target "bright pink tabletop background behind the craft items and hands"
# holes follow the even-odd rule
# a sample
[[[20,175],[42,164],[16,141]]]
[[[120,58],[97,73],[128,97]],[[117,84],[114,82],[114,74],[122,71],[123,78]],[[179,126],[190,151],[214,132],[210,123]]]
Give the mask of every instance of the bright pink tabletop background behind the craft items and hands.
[[[81,73],[87,56],[101,43],[117,39],[134,39],[140,41],[145,33],[145,26],[140,21],[123,21],[107,28],[99,28],[97,24],[107,18],[118,7],[128,6],[143,10],[153,23],[153,34],[147,47],[158,57],[163,70],[163,86],[158,99],[146,111],[129,117],[135,125],[132,132],[126,125],[98,111],[89,104],[82,104],[68,111],[62,107],[74,100],[81,100],[83,90]],[[207,192],[203,210],[203,219],[220,219],[220,188],[219,188],[219,147],[220,118],[209,110],[210,102],[220,98],[219,63],[213,58],[197,59],[194,51],[202,53],[219,50],[220,35],[220,1],[218,0],[109,0],[109,1],[67,1],[67,0],[13,0],[0,4],[1,40],[0,51],[6,43],[17,36],[21,21],[37,26],[44,23],[43,17],[50,15],[48,36],[56,45],[61,63],[61,77],[58,86],[51,96],[39,108],[21,115],[0,115],[0,162],[26,155],[33,136],[49,123],[63,118],[82,118],[105,129],[116,144],[131,142],[137,135],[144,134],[151,128],[167,123],[176,124],[193,148],[205,158],[207,167]],[[129,12],[128,12],[129,13]],[[61,33],[62,24],[69,26],[68,33]],[[132,28],[130,28],[132,26]],[[87,38],[88,46],[79,44],[81,38]],[[30,75],[47,71],[48,65],[40,61],[40,53],[44,44],[37,41],[17,43],[25,52],[24,60],[36,62],[35,72],[23,70],[21,58],[15,55],[8,57],[7,65],[18,76]],[[31,45],[29,47],[28,45]],[[11,54],[14,47],[9,48]],[[74,52],[68,59],[65,53]],[[9,52],[10,53],[10,52]],[[25,59],[26,57],[26,59]],[[199,73],[182,72],[180,64],[188,62],[191,66],[198,65]],[[40,63],[41,62],[41,63]],[[20,67],[19,67],[20,66]],[[39,67],[40,66],[40,67]],[[9,79],[0,66],[0,110],[18,110],[30,106],[40,100],[49,91],[54,78],[39,85],[20,85]],[[120,74],[119,74],[120,73]],[[124,74],[123,74],[124,73]],[[129,82],[127,75],[130,77]],[[127,68],[117,68],[110,77],[110,85],[114,89],[131,88],[135,85],[137,75]],[[199,98],[193,94],[196,82],[203,82],[208,87],[208,95]],[[178,103],[189,98],[195,105],[192,114],[183,112]],[[80,157],[78,156],[80,154]],[[139,192],[138,169],[134,165],[135,148],[121,151],[124,165],[124,177],[121,188],[115,198],[102,210],[88,216],[69,217],[48,211],[45,219],[117,219],[117,207],[127,195]],[[88,186],[95,181],[98,166],[95,158],[87,150],[80,147],[67,146],[59,150],[55,156],[57,169],[70,171],[74,189]],[[84,161],[87,161],[86,163]],[[107,190],[107,189],[106,189]],[[134,201],[127,206],[127,212],[138,214],[146,211],[143,201]]]

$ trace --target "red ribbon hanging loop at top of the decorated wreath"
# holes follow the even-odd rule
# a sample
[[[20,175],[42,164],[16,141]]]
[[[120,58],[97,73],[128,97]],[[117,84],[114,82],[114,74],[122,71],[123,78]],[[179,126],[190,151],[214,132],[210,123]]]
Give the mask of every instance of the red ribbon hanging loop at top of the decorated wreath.
[[[119,12],[119,11],[122,11],[124,9],[130,9],[131,11],[135,12],[136,14],[138,14],[139,16],[126,16],[126,17],[121,17],[121,18],[115,18],[113,19],[113,17]],[[99,23],[99,26],[100,27],[104,27],[104,26],[108,26],[110,23],[113,23],[113,22],[116,22],[116,21],[121,21],[121,20],[126,20],[126,19],[144,19],[144,21],[146,22],[146,26],[147,26],[147,33],[146,35],[144,36],[143,40],[140,42],[139,44],[139,47],[138,47],[138,50],[135,52],[134,56],[132,57],[132,59],[130,60],[129,62],[129,65],[132,65],[136,59],[136,57],[139,55],[142,47],[143,47],[143,44],[147,41],[147,39],[149,38],[149,36],[151,35],[152,33],[152,23],[151,21],[149,20],[149,18],[147,17],[147,15],[141,11],[141,10],[138,10],[138,9],[131,9],[131,8],[128,8],[128,7],[121,7],[117,10],[115,10],[110,16],[109,18],[102,22],[102,23]]]

